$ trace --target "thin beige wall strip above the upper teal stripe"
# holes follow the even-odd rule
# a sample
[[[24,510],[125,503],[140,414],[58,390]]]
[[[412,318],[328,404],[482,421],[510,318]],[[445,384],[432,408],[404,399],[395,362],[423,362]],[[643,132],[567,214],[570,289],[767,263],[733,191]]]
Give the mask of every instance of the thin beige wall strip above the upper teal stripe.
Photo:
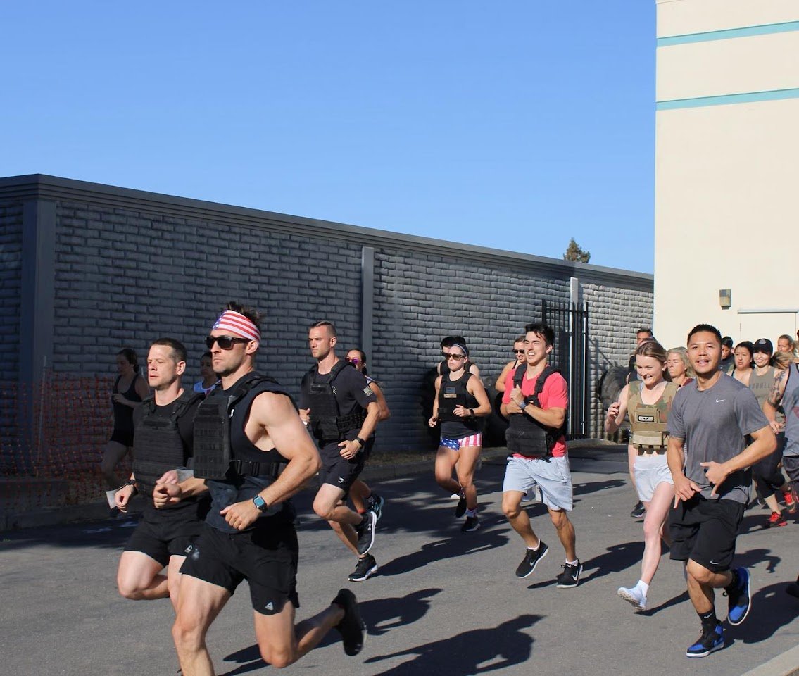
[[[657,0],[658,38],[799,21],[796,0]]]

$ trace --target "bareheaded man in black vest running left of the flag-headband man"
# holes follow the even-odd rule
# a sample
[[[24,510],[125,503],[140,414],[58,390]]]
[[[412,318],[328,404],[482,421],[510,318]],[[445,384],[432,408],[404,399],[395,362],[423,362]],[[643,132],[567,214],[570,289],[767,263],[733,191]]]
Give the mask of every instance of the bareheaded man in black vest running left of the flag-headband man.
[[[127,511],[137,492],[145,508],[119,559],[117,587],[125,598],[166,598],[177,604],[185,549],[197,538],[209,500],[200,495],[157,510],[153,487],[165,471],[185,468],[192,456],[193,422],[203,396],[184,390],[181,376],[186,350],[173,338],[156,340],[147,356],[147,380],[153,396],[133,412],[133,474],[117,491],[116,504]],[[166,575],[161,571],[167,568]]]

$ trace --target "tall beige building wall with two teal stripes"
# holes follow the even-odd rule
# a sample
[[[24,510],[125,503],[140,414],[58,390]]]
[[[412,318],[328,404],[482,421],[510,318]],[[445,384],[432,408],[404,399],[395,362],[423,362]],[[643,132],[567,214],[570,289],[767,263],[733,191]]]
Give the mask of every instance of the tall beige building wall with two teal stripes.
[[[656,2],[655,336],[796,336],[799,2]]]

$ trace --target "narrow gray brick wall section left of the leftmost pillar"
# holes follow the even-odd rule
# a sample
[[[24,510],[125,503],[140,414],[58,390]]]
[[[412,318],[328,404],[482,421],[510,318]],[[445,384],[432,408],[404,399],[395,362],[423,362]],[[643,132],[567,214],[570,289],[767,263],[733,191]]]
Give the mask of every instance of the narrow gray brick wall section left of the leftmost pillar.
[[[19,302],[22,284],[22,204],[0,203],[0,380],[19,370]]]

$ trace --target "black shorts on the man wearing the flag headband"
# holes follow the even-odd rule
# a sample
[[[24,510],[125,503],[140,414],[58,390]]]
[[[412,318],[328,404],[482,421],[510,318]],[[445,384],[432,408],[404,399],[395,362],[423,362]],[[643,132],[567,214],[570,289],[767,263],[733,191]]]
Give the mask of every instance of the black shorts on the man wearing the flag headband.
[[[252,609],[260,614],[279,613],[287,600],[299,608],[296,572],[300,547],[294,525],[286,519],[270,522],[276,519],[259,519],[252,530],[239,533],[223,533],[203,524],[181,574],[224,587],[231,594],[247,580]]]

